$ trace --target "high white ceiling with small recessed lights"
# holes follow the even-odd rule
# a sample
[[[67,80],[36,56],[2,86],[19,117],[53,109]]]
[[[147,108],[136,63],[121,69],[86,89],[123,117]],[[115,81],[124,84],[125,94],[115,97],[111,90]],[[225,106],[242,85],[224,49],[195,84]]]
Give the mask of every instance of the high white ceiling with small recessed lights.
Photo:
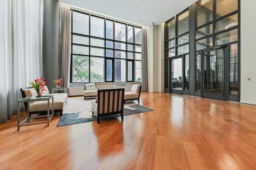
[[[160,25],[198,0],[59,0],[136,24]],[[80,3],[79,3],[80,2]]]

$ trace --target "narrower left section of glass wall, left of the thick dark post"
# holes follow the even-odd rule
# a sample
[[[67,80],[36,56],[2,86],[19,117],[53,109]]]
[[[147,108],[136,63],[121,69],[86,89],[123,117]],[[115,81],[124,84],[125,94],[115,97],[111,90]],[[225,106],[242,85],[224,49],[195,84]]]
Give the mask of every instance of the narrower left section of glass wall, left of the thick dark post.
[[[165,77],[165,91],[168,92],[188,90],[189,23],[189,10],[166,22],[165,65],[168,67],[166,73],[169,73]]]

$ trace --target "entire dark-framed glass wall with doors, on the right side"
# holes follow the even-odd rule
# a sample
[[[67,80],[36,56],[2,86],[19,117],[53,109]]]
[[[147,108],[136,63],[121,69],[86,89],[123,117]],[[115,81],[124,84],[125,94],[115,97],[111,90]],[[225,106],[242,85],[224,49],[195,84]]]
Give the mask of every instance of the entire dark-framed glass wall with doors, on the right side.
[[[200,97],[239,101],[239,4],[240,0],[199,0],[166,22],[166,92],[176,93],[174,59],[182,57],[181,94],[188,90]],[[186,30],[186,23],[193,28]]]

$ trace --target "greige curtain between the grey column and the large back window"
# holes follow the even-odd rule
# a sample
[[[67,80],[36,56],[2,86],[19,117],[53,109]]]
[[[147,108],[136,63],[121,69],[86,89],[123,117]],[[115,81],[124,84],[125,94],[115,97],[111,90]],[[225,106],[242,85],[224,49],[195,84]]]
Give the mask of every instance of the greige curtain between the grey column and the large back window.
[[[60,77],[62,85],[68,89],[70,79],[70,44],[71,44],[70,5],[60,2]],[[68,93],[68,92],[67,92]]]

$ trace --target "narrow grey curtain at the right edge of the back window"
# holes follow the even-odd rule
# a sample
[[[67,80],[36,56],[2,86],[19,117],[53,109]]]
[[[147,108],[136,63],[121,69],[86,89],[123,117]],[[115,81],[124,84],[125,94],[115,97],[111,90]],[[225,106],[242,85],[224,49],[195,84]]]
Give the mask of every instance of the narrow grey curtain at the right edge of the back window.
[[[148,91],[148,67],[147,67],[147,62],[148,62],[148,47],[147,47],[147,27],[142,26],[142,60],[141,60],[141,68],[142,68],[142,73],[141,73],[141,91]]]

